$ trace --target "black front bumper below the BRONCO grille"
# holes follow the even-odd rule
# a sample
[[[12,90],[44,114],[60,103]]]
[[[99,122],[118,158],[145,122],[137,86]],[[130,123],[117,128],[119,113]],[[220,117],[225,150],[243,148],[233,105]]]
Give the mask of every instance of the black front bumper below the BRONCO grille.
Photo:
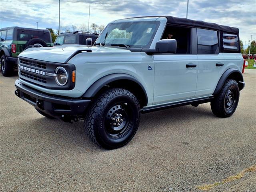
[[[34,90],[20,80],[15,81],[16,96],[22,98],[36,109],[56,118],[70,122],[71,119],[82,117],[91,100],[49,95]]]

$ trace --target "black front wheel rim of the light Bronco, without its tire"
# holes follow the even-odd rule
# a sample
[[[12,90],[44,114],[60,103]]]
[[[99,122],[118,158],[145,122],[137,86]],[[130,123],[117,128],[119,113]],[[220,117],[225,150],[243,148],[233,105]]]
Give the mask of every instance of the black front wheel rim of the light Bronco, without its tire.
[[[133,122],[132,106],[128,102],[118,102],[108,108],[104,125],[109,136],[119,139],[130,131]]]

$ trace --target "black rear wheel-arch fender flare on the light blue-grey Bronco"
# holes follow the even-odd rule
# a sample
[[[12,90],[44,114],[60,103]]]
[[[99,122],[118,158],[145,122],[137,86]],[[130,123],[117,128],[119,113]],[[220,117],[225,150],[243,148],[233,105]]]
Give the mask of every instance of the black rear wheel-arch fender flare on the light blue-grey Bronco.
[[[242,90],[244,88],[244,78],[242,73],[235,69],[235,68],[229,68],[228,70],[226,70],[222,76],[220,77],[220,80],[213,92],[213,95],[216,95],[220,92],[223,84],[225,83],[225,81],[228,79],[229,76],[234,75],[236,78],[234,80],[236,80],[238,82],[239,85],[239,89]]]

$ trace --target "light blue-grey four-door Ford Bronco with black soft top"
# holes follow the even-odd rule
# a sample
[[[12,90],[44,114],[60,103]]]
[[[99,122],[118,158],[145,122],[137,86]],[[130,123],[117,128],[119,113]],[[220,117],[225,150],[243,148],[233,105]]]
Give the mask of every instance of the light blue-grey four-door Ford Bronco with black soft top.
[[[239,29],[150,16],[108,24],[94,46],[29,48],[18,56],[15,94],[47,118],[84,120],[90,139],[114,149],[140,113],[210,102],[231,116],[244,88]]]

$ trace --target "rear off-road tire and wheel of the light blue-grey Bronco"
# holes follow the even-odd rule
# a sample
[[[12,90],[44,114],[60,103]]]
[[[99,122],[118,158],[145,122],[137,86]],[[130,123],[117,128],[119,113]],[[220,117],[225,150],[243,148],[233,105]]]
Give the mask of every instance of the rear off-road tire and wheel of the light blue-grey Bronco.
[[[229,96],[232,93],[231,99],[232,104],[229,102]],[[214,115],[218,117],[230,117],[236,111],[239,101],[239,88],[238,83],[233,79],[225,81],[220,92],[216,95],[214,100],[211,102],[211,109]],[[228,103],[229,102],[229,103]],[[228,108],[228,104],[230,104]]]

